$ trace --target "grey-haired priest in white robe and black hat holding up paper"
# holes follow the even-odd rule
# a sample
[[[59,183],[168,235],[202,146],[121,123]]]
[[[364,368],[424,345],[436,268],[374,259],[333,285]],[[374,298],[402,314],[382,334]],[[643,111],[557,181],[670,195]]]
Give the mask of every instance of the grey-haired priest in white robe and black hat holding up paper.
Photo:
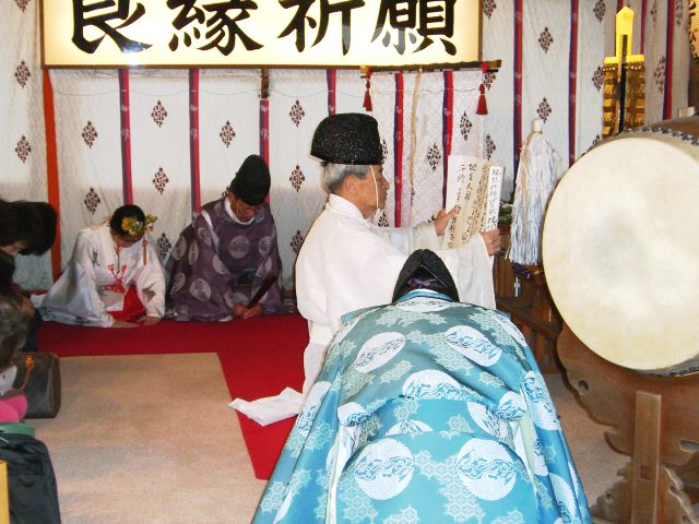
[[[330,192],[325,210],[311,226],[296,262],[298,310],[308,320],[310,342],[304,353],[304,394],[270,397],[234,407],[261,424],[298,413],[322,367],[323,356],[343,314],[391,300],[393,285],[407,257],[416,249],[435,250],[451,272],[465,302],[495,308],[488,255],[500,249],[496,230],[474,236],[466,245],[438,251],[454,211],[443,210],[434,223],[382,228],[370,219],[386,204],[383,152],[378,123],[363,114],[340,114],[322,120],[311,155],[323,165]]]

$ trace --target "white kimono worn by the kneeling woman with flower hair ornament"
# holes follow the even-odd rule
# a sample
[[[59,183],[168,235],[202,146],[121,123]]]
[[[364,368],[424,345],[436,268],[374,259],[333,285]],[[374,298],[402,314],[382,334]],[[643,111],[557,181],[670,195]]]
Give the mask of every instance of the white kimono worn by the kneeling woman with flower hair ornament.
[[[125,293],[134,286],[149,317],[165,312],[165,274],[147,236],[118,248],[109,224],[78,234],[68,267],[48,291],[40,312],[46,320],[109,327],[110,311],[123,309]]]

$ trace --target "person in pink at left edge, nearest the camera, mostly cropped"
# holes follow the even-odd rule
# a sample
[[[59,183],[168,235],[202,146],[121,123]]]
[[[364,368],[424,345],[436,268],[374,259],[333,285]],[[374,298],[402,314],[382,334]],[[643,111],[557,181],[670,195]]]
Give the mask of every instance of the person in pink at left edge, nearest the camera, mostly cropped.
[[[28,320],[15,302],[0,297],[0,422],[19,422],[26,415],[26,396],[12,388],[17,374],[12,357],[24,345]]]

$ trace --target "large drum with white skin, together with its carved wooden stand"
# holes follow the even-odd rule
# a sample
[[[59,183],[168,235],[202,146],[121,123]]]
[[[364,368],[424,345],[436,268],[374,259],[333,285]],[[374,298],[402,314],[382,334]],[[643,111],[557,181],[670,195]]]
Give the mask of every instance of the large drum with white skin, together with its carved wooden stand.
[[[699,523],[698,228],[699,117],[603,142],[552,196],[543,259],[558,356],[631,457],[592,508],[599,522]]]

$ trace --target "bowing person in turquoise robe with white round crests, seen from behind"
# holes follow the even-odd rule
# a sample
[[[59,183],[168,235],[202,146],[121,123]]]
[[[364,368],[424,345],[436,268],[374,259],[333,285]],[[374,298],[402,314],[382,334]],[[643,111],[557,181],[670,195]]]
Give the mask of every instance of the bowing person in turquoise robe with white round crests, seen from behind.
[[[418,250],[393,303],[345,317],[254,524],[591,522],[522,334],[458,296]]]

